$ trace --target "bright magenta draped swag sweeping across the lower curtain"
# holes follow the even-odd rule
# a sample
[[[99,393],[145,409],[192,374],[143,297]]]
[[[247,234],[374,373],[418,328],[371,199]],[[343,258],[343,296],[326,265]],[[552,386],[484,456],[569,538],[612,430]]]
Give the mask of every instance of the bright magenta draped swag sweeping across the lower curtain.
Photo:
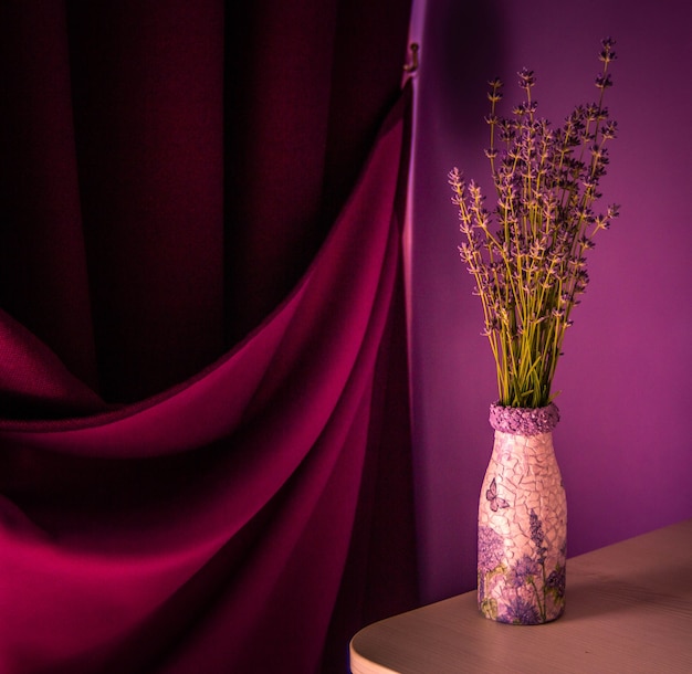
[[[294,293],[228,357],[146,403],[3,422],[3,671],[321,671],[367,450],[392,423],[376,373],[407,101]]]

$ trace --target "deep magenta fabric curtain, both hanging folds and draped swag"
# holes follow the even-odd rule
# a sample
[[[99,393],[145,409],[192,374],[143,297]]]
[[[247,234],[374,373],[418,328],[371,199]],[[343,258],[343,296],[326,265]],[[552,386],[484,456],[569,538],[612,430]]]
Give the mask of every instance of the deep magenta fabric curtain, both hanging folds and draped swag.
[[[3,673],[344,672],[416,602],[408,2],[243,4],[0,4]]]

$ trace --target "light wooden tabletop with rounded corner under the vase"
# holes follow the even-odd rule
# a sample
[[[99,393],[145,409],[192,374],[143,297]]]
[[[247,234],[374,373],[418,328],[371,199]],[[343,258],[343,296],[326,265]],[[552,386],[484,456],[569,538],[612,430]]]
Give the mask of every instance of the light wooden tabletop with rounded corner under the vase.
[[[565,613],[483,618],[475,590],[360,630],[353,674],[692,673],[692,519],[567,560]]]

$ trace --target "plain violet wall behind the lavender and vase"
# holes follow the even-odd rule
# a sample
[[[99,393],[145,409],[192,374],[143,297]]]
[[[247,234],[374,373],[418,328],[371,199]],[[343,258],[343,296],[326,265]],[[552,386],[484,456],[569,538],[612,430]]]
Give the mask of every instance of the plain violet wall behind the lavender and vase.
[[[590,251],[556,389],[554,433],[568,497],[568,554],[692,517],[690,253],[692,11],[683,0],[419,0],[411,202],[411,351],[424,601],[475,587],[478,495],[492,447],[494,365],[457,254],[447,172],[485,188],[486,82],[562,124],[594,101],[600,39],[617,40],[608,106],[619,124],[604,206],[621,215]],[[492,193],[487,191],[489,200]],[[494,201],[492,202],[494,204]]]

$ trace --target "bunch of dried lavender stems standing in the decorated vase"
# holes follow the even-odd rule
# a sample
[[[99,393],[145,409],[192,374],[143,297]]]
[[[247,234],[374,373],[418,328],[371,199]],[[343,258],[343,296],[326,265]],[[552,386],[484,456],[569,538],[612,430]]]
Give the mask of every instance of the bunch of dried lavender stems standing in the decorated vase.
[[[618,214],[617,204],[594,210],[617,130],[604,107],[614,45],[610,38],[601,42],[598,103],[576,106],[557,129],[536,115],[533,71],[518,73],[525,101],[510,117],[497,114],[502,82],[489,83],[493,211],[473,180],[457,168],[449,173],[464,235],[459,252],[483,306],[501,406],[541,408],[557,394],[552,385],[563,339],[588,284],[586,252]]]

